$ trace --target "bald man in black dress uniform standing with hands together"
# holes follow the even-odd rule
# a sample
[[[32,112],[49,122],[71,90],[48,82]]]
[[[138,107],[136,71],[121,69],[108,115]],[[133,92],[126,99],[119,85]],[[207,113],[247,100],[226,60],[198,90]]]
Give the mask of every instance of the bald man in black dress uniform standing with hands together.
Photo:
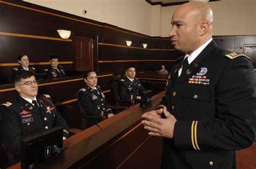
[[[254,68],[246,55],[215,44],[212,23],[207,3],[185,3],[173,13],[172,45],[185,57],[142,121],[149,135],[164,137],[161,168],[236,168],[235,150],[255,138]]]

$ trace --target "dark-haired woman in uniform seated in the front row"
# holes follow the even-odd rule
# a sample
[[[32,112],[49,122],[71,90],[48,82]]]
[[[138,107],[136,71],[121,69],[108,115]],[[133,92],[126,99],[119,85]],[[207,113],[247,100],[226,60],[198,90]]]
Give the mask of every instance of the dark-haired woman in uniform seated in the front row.
[[[78,101],[83,107],[87,116],[105,116],[106,118],[114,116],[113,111],[109,108],[106,103],[105,96],[102,89],[97,86],[97,74],[95,71],[85,71],[84,81],[86,85],[84,88],[80,89],[78,92]],[[92,120],[97,123],[99,121]],[[87,121],[85,129],[91,125],[93,122]],[[84,124],[82,124],[84,125]]]

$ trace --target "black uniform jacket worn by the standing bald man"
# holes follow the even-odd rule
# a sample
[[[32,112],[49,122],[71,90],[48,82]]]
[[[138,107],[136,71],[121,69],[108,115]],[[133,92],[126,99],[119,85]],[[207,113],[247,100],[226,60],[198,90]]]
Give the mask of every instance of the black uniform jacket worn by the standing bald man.
[[[171,70],[167,107],[176,117],[173,139],[164,138],[162,168],[235,168],[234,150],[254,140],[256,81],[250,60],[214,40],[178,77],[184,57]]]

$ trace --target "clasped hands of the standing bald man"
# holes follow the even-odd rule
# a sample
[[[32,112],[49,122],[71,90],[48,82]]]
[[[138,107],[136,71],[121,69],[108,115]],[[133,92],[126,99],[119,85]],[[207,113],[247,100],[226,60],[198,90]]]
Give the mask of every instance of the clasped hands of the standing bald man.
[[[163,113],[166,118],[161,118]],[[166,107],[145,112],[142,118],[144,118],[142,121],[144,129],[149,130],[149,135],[173,138],[174,125],[177,119],[167,111]]]

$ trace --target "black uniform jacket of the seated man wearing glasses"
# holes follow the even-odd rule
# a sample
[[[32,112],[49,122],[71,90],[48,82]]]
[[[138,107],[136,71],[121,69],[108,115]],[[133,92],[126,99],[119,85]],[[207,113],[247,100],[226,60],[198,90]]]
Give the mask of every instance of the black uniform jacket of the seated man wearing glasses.
[[[12,102],[0,106],[2,112],[2,140],[9,152],[21,151],[21,138],[32,136],[55,126],[63,127],[68,137],[69,126],[52,104],[49,95],[37,97],[39,108],[17,96]]]

